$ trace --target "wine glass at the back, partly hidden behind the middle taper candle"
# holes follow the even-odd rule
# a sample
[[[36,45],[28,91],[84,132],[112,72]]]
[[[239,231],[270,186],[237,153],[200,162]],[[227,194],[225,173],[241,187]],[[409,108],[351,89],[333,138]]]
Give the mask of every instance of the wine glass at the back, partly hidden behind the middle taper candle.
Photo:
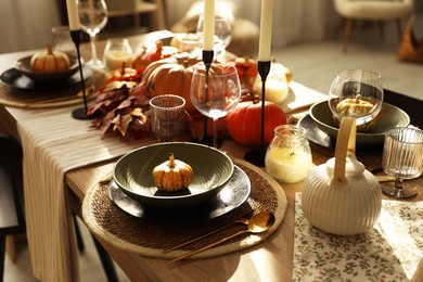
[[[200,38],[203,38],[204,29],[204,16],[200,15],[196,26],[196,33]],[[222,56],[226,53],[226,49],[232,41],[232,25],[228,17],[221,15],[215,15],[215,41],[214,50],[217,56]]]

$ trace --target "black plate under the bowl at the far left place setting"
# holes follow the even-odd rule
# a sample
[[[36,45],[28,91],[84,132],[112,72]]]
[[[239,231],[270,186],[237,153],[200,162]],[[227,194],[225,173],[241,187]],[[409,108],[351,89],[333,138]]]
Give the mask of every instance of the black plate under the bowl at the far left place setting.
[[[88,67],[82,67],[84,79],[88,79],[92,75],[92,70]],[[23,75],[15,68],[10,68],[1,74],[0,82],[20,90],[54,90],[74,86],[80,82],[79,70],[64,81],[35,81],[27,76]]]

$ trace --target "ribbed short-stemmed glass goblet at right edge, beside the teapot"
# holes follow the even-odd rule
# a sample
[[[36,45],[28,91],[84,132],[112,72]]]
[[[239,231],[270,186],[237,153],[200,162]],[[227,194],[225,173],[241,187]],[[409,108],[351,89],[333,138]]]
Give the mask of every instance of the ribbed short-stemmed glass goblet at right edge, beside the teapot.
[[[382,191],[396,198],[414,196],[418,191],[405,179],[413,179],[423,172],[423,131],[412,127],[394,127],[385,132],[382,157],[383,170],[395,177],[395,183],[382,184]]]

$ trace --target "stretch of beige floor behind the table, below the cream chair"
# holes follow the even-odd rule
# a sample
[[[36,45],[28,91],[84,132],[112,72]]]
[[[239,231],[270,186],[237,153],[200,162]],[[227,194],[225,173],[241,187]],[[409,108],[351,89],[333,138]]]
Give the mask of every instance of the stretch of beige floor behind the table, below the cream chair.
[[[336,72],[362,68],[380,73],[385,89],[423,100],[423,64],[398,61],[396,35],[394,24],[386,24],[385,39],[370,26],[354,30],[346,53],[339,34],[336,39],[293,44],[273,55],[292,70],[295,81],[322,93],[329,92]]]

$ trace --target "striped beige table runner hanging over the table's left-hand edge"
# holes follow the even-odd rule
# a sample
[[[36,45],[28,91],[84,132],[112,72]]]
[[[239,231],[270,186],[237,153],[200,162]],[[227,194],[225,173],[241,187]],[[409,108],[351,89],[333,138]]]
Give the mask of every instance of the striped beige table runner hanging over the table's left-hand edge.
[[[64,174],[153,142],[102,140],[100,131],[90,128],[91,120],[74,119],[72,111],[50,110],[18,120],[28,244],[34,273],[42,281],[78,281],[73,275],[77,261],[72,259],[76,252],[69,244]]]

